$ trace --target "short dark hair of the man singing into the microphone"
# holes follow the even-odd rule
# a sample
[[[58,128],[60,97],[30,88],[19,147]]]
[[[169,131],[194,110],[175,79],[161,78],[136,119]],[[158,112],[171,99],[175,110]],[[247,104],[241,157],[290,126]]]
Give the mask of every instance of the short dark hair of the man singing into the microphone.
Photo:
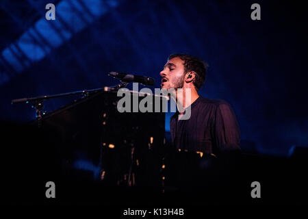
[[[207,63],[203,62],[198,57],[194,57],[188,54],[175,53],[169,55],[168,60],[172,60],[174,57],[179,57],[184,61],[184,75],[189,73],[190,71],[194,71],[196,73],[196,77],[193,81],[194,87],[198,91],[205,82],[205,75],[207,74]]]

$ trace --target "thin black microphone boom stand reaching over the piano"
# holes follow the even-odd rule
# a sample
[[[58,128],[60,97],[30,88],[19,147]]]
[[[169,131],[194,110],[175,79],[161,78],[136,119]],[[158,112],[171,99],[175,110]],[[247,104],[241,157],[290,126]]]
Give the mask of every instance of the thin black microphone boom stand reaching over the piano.
[[[81,94],[81,98],[88,97],[90,94],[101,92],[101,91],[118,91],[120,88],[126,88],[127,82],[121,81],[116,86],[112,87],[104,87],[104,88],[95,88],[91,90],[79,90],[74,92],[66,92],[62,94],[53,94],[53,95],[44,95],[44,96],[36,96],[36,97],[29,97],[29,98],[21,98],[21,99],[14,99],[11,103],[31,103],[32,107],[36,109],[36,118],[38,119],[38,127],[42,127],[42,116],[44,115],[43,107],[44,107],[44,100],[53,99],[56,97],[62,96],[73,96],[77,94]]]

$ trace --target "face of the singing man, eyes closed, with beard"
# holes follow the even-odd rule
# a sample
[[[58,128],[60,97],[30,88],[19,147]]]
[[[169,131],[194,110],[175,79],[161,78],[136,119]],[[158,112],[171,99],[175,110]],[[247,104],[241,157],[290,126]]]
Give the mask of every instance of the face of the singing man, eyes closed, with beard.
[[[179,57],[174,57],[164,66],[164,70],[160,72],[162,76],[162,88],[167,90],[170,88],[183,88],[184,84],[184,61]]]

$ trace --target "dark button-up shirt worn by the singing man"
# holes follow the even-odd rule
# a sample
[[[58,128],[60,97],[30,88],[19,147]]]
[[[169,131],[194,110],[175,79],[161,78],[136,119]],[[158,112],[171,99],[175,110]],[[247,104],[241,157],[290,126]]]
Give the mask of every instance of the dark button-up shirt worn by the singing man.
[[[235,114],[226,101],[199,96],[191,105],[188,120],[170,119],[172,142],[183,151],[218,155],[240,149],[240,129]]]

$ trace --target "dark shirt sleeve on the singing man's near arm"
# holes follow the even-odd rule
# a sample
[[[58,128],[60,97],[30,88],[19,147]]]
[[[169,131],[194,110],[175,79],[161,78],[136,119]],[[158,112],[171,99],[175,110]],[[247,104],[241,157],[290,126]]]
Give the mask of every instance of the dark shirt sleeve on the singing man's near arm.
[[[240,127],[227,102],[220,103],[216,109],[213,138],[220,153],[240,150]]]

